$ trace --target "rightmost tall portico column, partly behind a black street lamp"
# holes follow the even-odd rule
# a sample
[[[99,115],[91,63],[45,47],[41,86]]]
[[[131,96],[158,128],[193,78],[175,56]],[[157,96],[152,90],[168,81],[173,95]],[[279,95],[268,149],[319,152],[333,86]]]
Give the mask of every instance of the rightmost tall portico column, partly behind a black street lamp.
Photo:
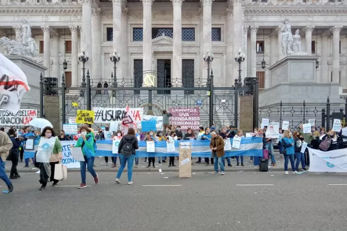
[[[242,49],[242,0],[233,0],[233,52],[234,55]],[[251,46],[252,47],[252,46]],[[245,50],[242,50],[245,52]],[[235,62],[235,61],[234,61]],[[238,65],[234,65],[232,79],[238,77]],[[253,77],[253,76],[252,76]]]

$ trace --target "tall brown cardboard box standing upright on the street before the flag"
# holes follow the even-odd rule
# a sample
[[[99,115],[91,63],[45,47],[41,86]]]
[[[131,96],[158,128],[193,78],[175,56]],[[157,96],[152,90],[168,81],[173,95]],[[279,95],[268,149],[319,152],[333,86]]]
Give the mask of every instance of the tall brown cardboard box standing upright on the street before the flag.
[[[180,143],[179,177],[191,178],[191,144],[190,142]]]

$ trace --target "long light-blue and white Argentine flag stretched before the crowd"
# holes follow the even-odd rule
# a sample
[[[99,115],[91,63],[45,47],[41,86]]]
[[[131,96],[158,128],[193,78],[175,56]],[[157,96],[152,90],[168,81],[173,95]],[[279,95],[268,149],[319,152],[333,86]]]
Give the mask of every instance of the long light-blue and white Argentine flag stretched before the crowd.
[[[231,144],[233,139],[230,140]],[[210,141],[208,140],[181,140],[175,141],[175,151],[167,151],[166,141],[155,142],[155,152],[147,152],[147,143],[145,141],[139,142],[139,149],[136,150],[136,157],[169,157],[179,156],[179,143],[190,142],[192,149],[192,157],[211,157]],[[75,144],[76,141],[61,141],[63,146],[63,152],[69,152],[68,145]],[[96,142],[97,150],[96,155],[99,157],[116,157],[117,154],[112,154],[112,140],[99,140]],[[232,146],[232,145],[231,145]],[[35,142],[35,148],[37,147],[37,141]],[[65,148],[65,150],[64,150]],[[33,158],[35,151],[25,151],[24,158]],[[63,153],[63,156],[65,155]],[[67,155],[67,154],[66,154]],[[70,156],[67,155],[68,157]],[[231,150],[225,151],[225,157],[236,156],[263,156],[263,142],[260,137],[245,137],[241,139],[240,148],[231,148]]]

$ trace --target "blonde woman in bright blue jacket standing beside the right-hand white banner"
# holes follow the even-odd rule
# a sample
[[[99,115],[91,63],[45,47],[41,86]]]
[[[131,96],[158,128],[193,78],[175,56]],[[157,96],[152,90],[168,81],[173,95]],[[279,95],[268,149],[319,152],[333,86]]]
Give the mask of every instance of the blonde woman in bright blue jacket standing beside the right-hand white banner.
[[[294,139],[290,135],[290,131],[286,130],[283,133],[282,139],[281,139],[282,147],[286,149],[286,151],[283,153],[284,155],[284,173],[288,173],[288,159],[290,160],[291,170],[294,174],[298,173],[295,169],[294,164]]]

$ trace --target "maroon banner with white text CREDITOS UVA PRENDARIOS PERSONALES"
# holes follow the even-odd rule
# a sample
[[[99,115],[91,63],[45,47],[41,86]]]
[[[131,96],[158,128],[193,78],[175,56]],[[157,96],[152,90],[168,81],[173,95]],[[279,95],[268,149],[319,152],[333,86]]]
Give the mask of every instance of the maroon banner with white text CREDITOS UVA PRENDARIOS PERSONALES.
[[[188,127],[192,130],[199,130],[200,112],[199,108],[169,108],[171,125],[181,126],[182,131],[187,131]]]

